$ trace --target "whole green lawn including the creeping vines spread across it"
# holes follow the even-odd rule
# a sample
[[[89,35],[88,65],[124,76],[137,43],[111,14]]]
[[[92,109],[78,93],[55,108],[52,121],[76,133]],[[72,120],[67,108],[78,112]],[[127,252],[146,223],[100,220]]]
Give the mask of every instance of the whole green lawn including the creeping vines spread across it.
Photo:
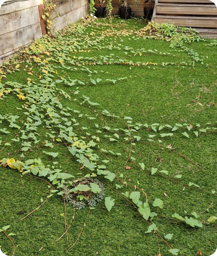
[[[0,166],[6,255],[14,251],[10,238],[16,256],[214,253],[217,44],[171,48],[139,34],[146,25],[88,18],[36,40],[2,68],[0,159],[23,166]],[[31,165],[39,158],[38,176]],[[59,172],[68,180],[97,174],[114,206],[108,211],[103,199],[91,208],[64,207]],[[156,214],[141,214],[139,201],[127,197],[134,190],[142,203],[147,196],[142,209]]]

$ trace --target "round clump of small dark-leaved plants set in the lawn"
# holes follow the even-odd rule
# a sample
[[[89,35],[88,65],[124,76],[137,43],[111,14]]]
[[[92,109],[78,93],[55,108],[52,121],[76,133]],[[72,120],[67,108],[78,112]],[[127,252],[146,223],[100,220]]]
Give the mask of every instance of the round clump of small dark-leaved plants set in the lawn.
[[[63,196],[73,208],[95,207],[105,197],[105,188],[97,179],[81,178],[67,181]]]

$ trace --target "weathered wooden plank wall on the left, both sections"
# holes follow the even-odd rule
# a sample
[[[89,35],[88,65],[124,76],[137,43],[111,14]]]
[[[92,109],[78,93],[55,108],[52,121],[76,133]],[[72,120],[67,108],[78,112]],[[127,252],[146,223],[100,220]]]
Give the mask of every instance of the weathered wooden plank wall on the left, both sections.
[[[0,8],[0,64],[36,38],[46,34],[43,0],[26,0],[10,3],[7,0]],[[52,13],[57,30],[69,22],[75,22],[88,11],[88,0],[56,0],[56,14]]]

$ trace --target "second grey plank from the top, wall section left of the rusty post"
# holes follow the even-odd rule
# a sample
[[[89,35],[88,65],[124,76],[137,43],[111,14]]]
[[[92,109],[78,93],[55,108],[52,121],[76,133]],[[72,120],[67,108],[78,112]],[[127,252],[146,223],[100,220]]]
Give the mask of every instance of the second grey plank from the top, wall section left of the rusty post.
[[[0,16],[0,35],[40,21],[38,6]]]

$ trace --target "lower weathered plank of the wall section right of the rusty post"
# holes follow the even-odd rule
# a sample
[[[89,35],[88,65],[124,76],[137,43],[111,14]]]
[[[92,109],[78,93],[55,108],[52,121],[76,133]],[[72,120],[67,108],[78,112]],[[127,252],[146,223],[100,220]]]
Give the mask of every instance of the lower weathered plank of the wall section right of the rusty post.
[[[71,12],[68,12],[62,16],[56,17],[53,19],[53,24],[56,27],[57,30],[61,30],[65,26],[67,26],[70,22],[75,22],[79,19],[81,19],[82,16],[85,16],[87,13],[88,6],[82,6],[78,9],[75,9]]]

